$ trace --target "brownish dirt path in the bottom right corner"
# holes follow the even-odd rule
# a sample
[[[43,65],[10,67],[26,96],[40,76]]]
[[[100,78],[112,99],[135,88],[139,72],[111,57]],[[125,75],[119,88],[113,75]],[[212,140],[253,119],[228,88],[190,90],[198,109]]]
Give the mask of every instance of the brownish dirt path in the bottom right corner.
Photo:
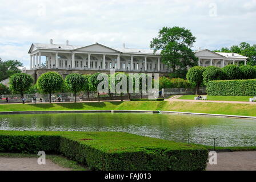
[[[208,163],[206,171],[255,171],[256,151],[218,152],[217,165]]]

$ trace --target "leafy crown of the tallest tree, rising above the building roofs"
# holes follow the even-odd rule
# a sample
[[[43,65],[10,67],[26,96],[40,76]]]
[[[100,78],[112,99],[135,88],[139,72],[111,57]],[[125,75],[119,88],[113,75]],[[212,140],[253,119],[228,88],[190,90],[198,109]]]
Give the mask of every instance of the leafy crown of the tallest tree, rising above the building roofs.
[[[197,57],[191,50],[195,43],[195,37],[190,30],[181,27],[163,27],[159,31],[158,38],[150,42],[154,51],[161,50],[161,61],[179,77],[186,77],[187,66],[197,65]]]

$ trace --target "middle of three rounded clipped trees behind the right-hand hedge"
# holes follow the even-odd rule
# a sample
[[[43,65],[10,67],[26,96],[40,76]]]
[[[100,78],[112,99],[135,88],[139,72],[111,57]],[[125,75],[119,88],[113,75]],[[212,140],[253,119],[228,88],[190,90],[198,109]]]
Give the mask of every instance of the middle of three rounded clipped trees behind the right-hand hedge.
[[[222,70],[225,73],[226,80],[236,80],[243,78],[243,73],[237,65],[229,64],[222,68]]]

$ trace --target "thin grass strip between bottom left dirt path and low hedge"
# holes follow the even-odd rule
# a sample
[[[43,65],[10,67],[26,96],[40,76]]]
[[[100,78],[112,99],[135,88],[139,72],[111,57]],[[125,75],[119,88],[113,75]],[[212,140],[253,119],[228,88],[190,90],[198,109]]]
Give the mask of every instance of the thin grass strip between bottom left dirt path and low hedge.
[[[14,153],[0,153],[0,157],[5,158],[38,158],[37,154],[14,154]],[[82,167],[77,162],[67,159],[61,155],[46,154],[46,159],[50,159],[53,163],[58,164],[58,166],[69,168],[72,171],[87,171],[89,169]]]

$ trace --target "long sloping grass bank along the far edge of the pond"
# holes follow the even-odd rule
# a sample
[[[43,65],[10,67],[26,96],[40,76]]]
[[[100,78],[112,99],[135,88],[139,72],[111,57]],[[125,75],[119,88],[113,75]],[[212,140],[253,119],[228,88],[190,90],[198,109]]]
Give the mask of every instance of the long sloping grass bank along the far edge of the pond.
[[[0,105],[0,111],[26,110],[166,110],[191,113],[256,116],[256,105],[254,104],[230,104],[213,102],[124,101]]]

